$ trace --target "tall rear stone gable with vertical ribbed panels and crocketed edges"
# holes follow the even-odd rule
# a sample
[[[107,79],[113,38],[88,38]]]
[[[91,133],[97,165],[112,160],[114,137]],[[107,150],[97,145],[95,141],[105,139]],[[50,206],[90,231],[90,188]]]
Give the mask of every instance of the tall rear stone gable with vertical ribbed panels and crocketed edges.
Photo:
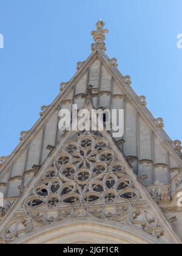
[[[125,110],[124,136],[117,138],[116,144],[119,147],[117,148],[118,152],[121,154],[118,155],[118,159],[120,162],[124,161],[122,162],[124,168],[128,168],[126,176],[129,176],[129,179],[132,178],[133,184],[135,183],[133,189],[137,188],[138,190],[141,186],[139,194],[142,194],[144,190],[143,185],[138,183],[135,179],[136,177],[143,177],[143,184],[147,186],[147,189],[150,191],[155,201],[157,197],[158,203],[162,204],[162,207],[164,207],[165,204],[169,204],[171,199],[171,203],[175,204],[177,192],[181,191],[182,186],[181,143],[178,140],[172,141],[167,136],[163,129],[163,119],[156,119],[152,116],[146,107],[146,98],[144,96],[138,96],[132,90],[130,77],[123,76],[117,68],[117,60],[110,59],[105,54],[106,44],[104,43],[104,34],[107,34],[108,30],[103,29],[103,27],[103,21],[98,21],[96,31],[92,32],[95,43],[92,44],[93,52],[89,58],[84,62],[78,62],[78,71],[69,82],[61,84],[61,93],[55,101],[53,101],[51,105],[41,108],[41,118],[32,129],[21,132],[21,143],[15,151],[8,157],[0,158],[0,192],[4,193],[5,197],[5,208],[2,209],[0,215],[0,220],[5,216],[5,218],[2,219],[2,225],[9,214],[12,215],[18,210],[19,207],[16,208],[16,205],[21,204],[21,199],[24,200],[23,198],[25,197],[22,196],[25,196],[25,191],[27,191],[27,188],[30,188],[31,184],[33,186],[38,182],[36,177],[38,177],[38,174],[42,172],[44,168],[50,165],[49,161],[52,159],[52,154],[57,150],[61,150],[62,143],[65,142],[64,139],[67,136],[70,136],[72,139],[72,133],[66,135],[58,129],[58,113],[61,108],[71,110],[72,104],[77,104],[78,109],[82,109],[86,105],[86,99],[84,99],[83,94],[86,93],[89,85],[92,85],[93,93],[97,95],[97,97],[93,98],[91,108],[123,108]],[[103,135],[100,135],[101,139],[102,136],[107,138],[107,136],[110,135],[105,131]],[[109,138],[107,139],[109,140]],[[111,140],[110,145],[113,143],[115,142]],[[112,149],[112,146],[110,147]],[[127,162],[132,166],[131,173],[129,173],[130,167]],[[93,170],[90,170],[90,172],[91,171]],[[133,172],[135,172],[136,176]],[[161,186],[163,187],[164,193],[167,194],[164,200],[162,200],[163,195],[160,194]],[[27,196],[28,194],[26,194],[26,197]],[[159,225],[166,230],[168,228],[170,229],[169,224],[165,222],[163,215],[160,215],[161,213],[158,212],[158,208],[155,208],[156,205],[154,203],[152,206],[154,208],[151,209],[150,197],[147,198],[145,196],[145,193],[141,196],[144,202],[139,200],[136,202],[136,206],[138,207],[140,203],[142,207],[143,204],[146,204],[146,207],[148,207],[149,204],[150,210],[157,212],[158,218],[161,218],[158,222]],[[12,211],[7,213],[13,203],[15,204]],[[112,209],[112,206],[109,205],[109,207]],[[109,207],[104,208],[106,212],[108,212],[106,208]],[[171,208],[170,205],[168,205],[168,208]],[[151,219],[147,218],[147,224],[146,222],[141,224],[141,212],[142,210],[138,210],[130,213],[132,216],[134,215],[135,218],[135,221],[133,220],[133,222],[135,222],[134,226],[138,227],[141,225],[142,229],[145,230],[147,227],[153,225],[153,215],[144,211],[143,213],[146,215],[149,214]],[[18,212],[18,215],[19,213],[20,212]],[[109,214],[111,213],[109,212],[108,215]],[[23,212],[22,215],[24,215]],[[136,219],[138,221],[136,221]],[[27,229],[27,221],[25,220],[23,223],[24,228]],[[127,224],[130,224],[129,219],[127,219]],[[163,230],[160,230],[161,226],[155,226],[155,228],[146,231],[155,237],[160,236],[160,241],[166,243],[173,241],[169,236],[166,238],[163,234]],[[10,234],[7,233],[7,235]],[[13,237],[13,233],[11,236]],[[162,236],[163,238],[161,238]],[[175,239],[178,241],[177,238]]]

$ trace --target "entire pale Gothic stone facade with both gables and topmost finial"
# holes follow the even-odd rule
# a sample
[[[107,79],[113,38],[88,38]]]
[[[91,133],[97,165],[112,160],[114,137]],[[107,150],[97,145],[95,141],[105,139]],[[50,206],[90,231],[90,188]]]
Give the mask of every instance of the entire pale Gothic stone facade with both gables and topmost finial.
[[[98,21],[92,54],[21,132],[15,151],[1,157],[1,244],[181,243],[181,143],[106,55],[107,33]],[[59,110],[72,104],[124,109],[124,137],[59,130]]]

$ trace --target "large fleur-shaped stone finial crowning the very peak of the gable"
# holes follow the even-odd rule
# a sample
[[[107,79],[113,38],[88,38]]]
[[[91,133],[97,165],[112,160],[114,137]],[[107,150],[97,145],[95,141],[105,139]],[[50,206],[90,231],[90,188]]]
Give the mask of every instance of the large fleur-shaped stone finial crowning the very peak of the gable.
[[[109,30],[103,29],[104,26],[104,21],[99,20],[98,23],[96,23],[96,30],[91,32],[93,40],[95,41],[95,43],[92,44],[92,51],[95,51],[96,49],[106,51],[106,44],[104,41],[106,40],[105,34],[108,34]]]

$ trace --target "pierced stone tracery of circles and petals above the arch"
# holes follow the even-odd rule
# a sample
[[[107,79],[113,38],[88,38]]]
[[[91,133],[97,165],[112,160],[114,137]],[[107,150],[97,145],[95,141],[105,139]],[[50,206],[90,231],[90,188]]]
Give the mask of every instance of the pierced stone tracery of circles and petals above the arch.
[[[16,240],[29,232],[29,226],[78,216],[125,223],[161,238],[158,219],[150,208],[138,207],[139,201],[143,202],[139,191],[108,141],[85,132],[62,146],[53,166],[25,199],[26,215],[15,219],[16,230],[10,224],[5,227],[2,240]]]

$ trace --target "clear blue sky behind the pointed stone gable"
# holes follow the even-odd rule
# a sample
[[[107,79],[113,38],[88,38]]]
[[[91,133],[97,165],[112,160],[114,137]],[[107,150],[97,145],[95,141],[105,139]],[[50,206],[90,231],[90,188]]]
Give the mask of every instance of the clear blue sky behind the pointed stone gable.
[[[100,18],[109,29],[107,54],[152,114],[164,118],[170,137],[182,140],[181,11],[181,0],[0,0],[0,155],[12,152],[19,132],[87,59]]]

